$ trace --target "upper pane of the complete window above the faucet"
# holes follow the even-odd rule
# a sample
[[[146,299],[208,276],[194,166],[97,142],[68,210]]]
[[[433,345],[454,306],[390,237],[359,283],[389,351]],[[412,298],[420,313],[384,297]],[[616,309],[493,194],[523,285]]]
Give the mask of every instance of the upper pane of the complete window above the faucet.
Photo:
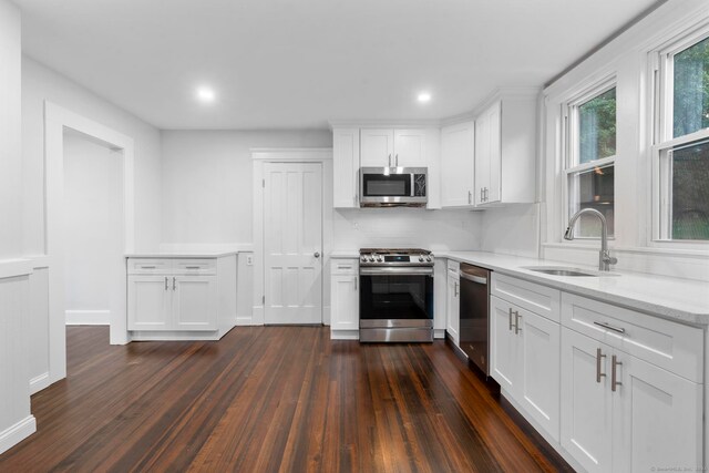
[[[616,89],[578,107],[578,161],[580,164],[616,154]]]

